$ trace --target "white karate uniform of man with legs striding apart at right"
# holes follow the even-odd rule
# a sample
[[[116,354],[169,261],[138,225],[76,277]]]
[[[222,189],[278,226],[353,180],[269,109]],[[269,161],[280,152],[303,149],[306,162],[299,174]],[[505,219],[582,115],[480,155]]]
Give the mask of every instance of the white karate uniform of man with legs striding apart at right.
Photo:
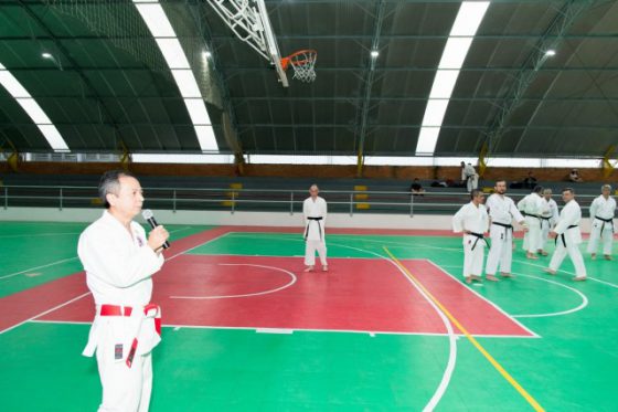
[[[582,220],[582,209],[575,200],[571,200],[564,205],[561,211],[558,223],[554,228],[554,232],[558,234],[556,237],[556,250],[552,255],[550,268],[557,271],[562,261],[568,253],[573,266],[575,266],[575,274],[578,277],[586,276],[586,266],[584,266],[584,257],[579,252],[579,244],[582,243],[582,231],[579,230],[579,221]],[[573,226],[568,229],[568,226]],[[565,247],[566,243],[566,247]]]

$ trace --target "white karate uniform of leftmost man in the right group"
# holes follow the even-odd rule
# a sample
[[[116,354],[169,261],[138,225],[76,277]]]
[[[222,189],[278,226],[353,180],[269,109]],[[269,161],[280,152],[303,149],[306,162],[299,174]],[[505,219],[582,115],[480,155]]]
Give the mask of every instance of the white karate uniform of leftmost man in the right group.
[[[462,205],[452,216],[452,231],[464,232],[464,277],[480,276],[483,265],[484,240],[466,234],[466,231],[483,234],[487,232],[489,218],[484,204],[470,202]]]

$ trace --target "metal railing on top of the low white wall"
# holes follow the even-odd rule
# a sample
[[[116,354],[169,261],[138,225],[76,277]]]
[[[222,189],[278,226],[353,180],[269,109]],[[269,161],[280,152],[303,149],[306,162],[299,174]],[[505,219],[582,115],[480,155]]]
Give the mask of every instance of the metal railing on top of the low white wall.
[[[162,210],[219,210],[273,211],[301,213],[307,189],[232,189],[232,188],[145,188],[145,208]],[[74,186],[2,186],[4,209],[19,207],[100,208],[97,188]],[[514,201],[523,194],[511,196]],[[412,194],[401,191],[322,190],[329,212],[449,214],[469,201],[468,193],[454,190],[426,191]],[[577,197],[583,210],[587,210],[595,196]],[[556,199],[557,200],[557,199]],[[560,203],[560,201],[558,201]]]

